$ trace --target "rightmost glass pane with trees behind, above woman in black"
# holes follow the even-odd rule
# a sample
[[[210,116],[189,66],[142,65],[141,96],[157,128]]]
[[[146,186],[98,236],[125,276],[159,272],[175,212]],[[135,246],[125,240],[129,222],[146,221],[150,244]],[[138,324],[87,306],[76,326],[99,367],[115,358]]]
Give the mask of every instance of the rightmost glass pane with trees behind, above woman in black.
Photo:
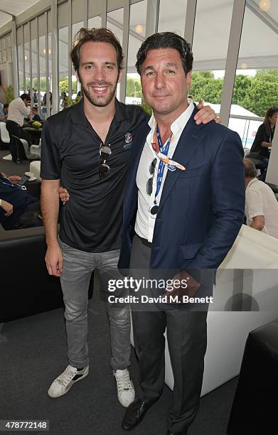
[[[261,14],[245,8],[229,119],[229,127],[240,134],[247,149],[252,146],[265,112],[278,102],[278,34],[264,19],[263,6]],[[269,2],[267,15],[277,23],[278,9],[273,1]],[[240,119],[235,118],[237,115]]]

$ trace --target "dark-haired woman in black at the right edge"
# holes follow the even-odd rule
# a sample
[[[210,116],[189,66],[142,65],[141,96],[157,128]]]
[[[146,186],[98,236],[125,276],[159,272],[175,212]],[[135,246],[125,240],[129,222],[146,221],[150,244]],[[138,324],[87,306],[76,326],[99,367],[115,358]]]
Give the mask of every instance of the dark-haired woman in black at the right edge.
[[[275,124],[277,122],[278,107],[271,107],[267,110],[264,116],[264,122],[257,129],[257,134],[255,136],[254,142],[250,149],[250,153],[256,153],[257,156],[254,159],[262,160],[262,174],[260,180],[264,181],[267,175],[267,166],[269,162],[269,146],[272,146],[272,139],[275,131]]]

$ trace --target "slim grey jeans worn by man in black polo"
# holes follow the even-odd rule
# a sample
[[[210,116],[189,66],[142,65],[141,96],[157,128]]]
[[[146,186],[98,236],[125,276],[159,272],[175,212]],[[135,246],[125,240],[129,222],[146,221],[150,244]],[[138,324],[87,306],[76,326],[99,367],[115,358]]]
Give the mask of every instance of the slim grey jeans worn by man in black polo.
[[[89,364],[87,346],[87,294],[90,277],[95,269],[100,270],[100,285],[107,279],[107,271],[119,279],[117,271],[119,250],[109,252],[84,252],[59,240],[63,254],[63,274],[60,278],[65,303],[65,321],[68,337],[68,360],[73,367]],[[105,283],[106,285],[106,283]],[[107,289],[103,289],[107,291]],[[115,308],[107,303],[111,339],[111,367],[124,370],[130,355],[129,306]]]

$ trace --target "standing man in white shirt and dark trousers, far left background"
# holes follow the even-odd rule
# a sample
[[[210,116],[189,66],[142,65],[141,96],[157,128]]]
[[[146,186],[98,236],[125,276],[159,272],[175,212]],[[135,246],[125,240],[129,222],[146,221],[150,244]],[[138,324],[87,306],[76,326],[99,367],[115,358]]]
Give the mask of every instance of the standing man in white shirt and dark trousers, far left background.
[[[28,146],[31,146],[31,137],[22,129],[24,117],[28,115],[29,119],[31,119],[29,103],[30,97],[28,94],[22,94],[20,97],[10,102],[6,128],[9,134],[18,136],[20,139],[26,139]]]

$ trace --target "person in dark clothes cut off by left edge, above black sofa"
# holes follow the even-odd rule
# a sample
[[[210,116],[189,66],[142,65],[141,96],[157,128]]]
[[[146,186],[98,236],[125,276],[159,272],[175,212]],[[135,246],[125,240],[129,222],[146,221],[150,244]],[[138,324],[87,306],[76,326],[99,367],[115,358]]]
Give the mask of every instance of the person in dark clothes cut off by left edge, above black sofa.
[[[40,200],[28,193],[26,189],[17,186],[21,180],[19,176],[6,176],[0,173],[0,223],[5,230],[17,230],[24,227],[21,225],[27,212],[40,212]],[[30,223],[30,222],[29,222]],[[33,225],[40,226],[42,221],[36,219]]]

